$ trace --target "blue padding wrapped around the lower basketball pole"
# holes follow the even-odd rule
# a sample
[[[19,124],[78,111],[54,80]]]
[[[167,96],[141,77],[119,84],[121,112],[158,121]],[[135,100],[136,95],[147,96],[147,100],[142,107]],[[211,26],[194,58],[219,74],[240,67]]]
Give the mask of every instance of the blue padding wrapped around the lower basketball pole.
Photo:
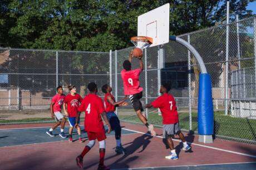
[[[211,77],[208,73],[200,73],[198,94],[198,133],[213,134],[213,98],[211,96]]]

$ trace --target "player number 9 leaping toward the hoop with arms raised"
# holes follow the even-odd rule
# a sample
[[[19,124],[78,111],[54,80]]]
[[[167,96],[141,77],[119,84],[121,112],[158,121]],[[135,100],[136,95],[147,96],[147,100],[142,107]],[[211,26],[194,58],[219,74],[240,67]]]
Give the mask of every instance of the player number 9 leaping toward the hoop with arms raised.
[[[122,66],[124,69],[121,71],[122,81],[124,82],[124,93],[125,96],[129,96],[132,106],[137,113],[140,121],[145,124],[145,126],[149,129],[149,132],[152,136],[155,136],[154,126],[152,124],[147,123],[147,119],[144,116],[142,104],[140,99],[142,98],[143,88],[140,87],[139,76],[143,71],[144,66],[141,57],[139,57],[140,68],[131,69],[131,59],[132,52],[130,53],[129,60],[124,61]]]

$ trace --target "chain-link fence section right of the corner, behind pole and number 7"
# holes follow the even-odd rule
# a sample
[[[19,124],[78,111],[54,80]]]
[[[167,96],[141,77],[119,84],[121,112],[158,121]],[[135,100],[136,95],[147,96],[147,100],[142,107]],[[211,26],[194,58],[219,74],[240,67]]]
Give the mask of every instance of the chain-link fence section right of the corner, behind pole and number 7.
[[[179,36],[198,50],[211,75],[215,137],[256,143],[255,28],[256,18],[249,18]],[[116,52],[118,73],[130,50]],[[170,93],[176,99],[181,128],[197,132],[200,68],[193,54],[181,44],[169,42],[144,50],[144,63],[145,70],[140,77],[144,88],[142,104],[154,101],[161,83],[171,82]],[[132,67],[137,67],[136,59],[132,64]],[[121,99],[121,77],[117,77],[117,82],[116,96]],[[118,113],[124,121],[140,122],[131,107],[119,108]],[[147,109],[146,114],[150,123],[162,125],[157,109]]]

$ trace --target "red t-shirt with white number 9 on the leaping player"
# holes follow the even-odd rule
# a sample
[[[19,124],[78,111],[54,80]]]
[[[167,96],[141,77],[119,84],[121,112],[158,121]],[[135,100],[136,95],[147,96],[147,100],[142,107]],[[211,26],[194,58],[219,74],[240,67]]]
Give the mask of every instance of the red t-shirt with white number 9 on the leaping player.
[[[122,81],[124,82],[125,95],[132,95],[143,91],[143,88],[140,87],[139,81],[141,72],[142,70],[140,68],[133,69],[131,71],[126,71],[123,69],[121,71]]]

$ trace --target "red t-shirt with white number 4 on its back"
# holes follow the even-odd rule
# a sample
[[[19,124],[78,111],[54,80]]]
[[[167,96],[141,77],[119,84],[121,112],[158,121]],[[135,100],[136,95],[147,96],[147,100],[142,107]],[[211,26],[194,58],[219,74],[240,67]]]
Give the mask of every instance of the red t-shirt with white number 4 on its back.
[[[101,113],[105,112],[102,99],[96,94],[88,94],[78,108],[85,112],[85,130],[88,132],[102,132],[103,122]]]

